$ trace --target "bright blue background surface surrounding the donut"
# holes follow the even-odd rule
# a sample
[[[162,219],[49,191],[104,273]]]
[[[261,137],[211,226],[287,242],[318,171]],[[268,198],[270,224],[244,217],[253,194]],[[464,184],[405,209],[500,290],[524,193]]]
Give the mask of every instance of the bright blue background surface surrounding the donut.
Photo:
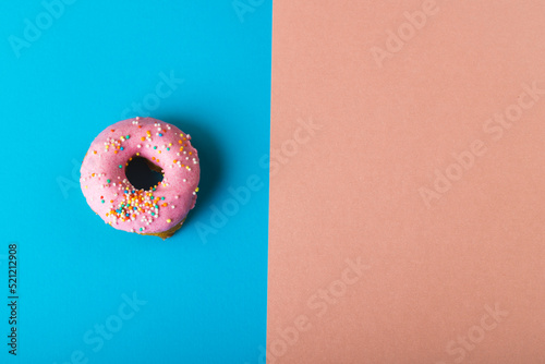
[[[271,3],[242,2],[239,16],[231,0],[78,0],[49,26],[38,19],[46,28],[19,58],[10,36],[24,40],[25,19],[36,24],[46,10],[40,1],[0,3],[0,302],[10,242],[19,245],[21,296],[16,359],[1,304],[1,363],[76,363],[77,351],[82,363],[257,362],[266,337],[268,170],[258,161],[269,150]],[[146,111],[192,134],[202,166],[197,205],[166,242],[105,225],[78,186],[90,142],[136,116],[125,109],[155,93],[161,72],[184,82]],[[263,187],[214,228],[214,207],[222,210],[229,187],[253,174]],[[216,230],[203,239],[197,222]],[[95,352],[84,335],[119,315],[123,294],[147,303]]]

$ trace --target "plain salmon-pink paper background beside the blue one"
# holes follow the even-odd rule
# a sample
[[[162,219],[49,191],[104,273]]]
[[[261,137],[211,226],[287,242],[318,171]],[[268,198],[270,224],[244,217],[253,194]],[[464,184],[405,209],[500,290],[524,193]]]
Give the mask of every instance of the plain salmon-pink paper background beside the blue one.
[[[267,363],[545,363],[545,2],[275,0],[272,45]]]

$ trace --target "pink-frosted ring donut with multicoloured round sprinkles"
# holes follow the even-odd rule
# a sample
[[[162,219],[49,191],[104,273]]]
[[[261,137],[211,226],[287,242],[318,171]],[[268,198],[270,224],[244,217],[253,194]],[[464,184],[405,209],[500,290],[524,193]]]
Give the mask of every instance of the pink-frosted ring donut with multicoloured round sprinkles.
[[[89,207],[113,228],[164,240],[181,227],[195,206],[201,168],[191,135],[154,118],[122,120],[90,144],[81,168],[81,186]],[[136,189],[126,177],[143,159],[162,181]]]

